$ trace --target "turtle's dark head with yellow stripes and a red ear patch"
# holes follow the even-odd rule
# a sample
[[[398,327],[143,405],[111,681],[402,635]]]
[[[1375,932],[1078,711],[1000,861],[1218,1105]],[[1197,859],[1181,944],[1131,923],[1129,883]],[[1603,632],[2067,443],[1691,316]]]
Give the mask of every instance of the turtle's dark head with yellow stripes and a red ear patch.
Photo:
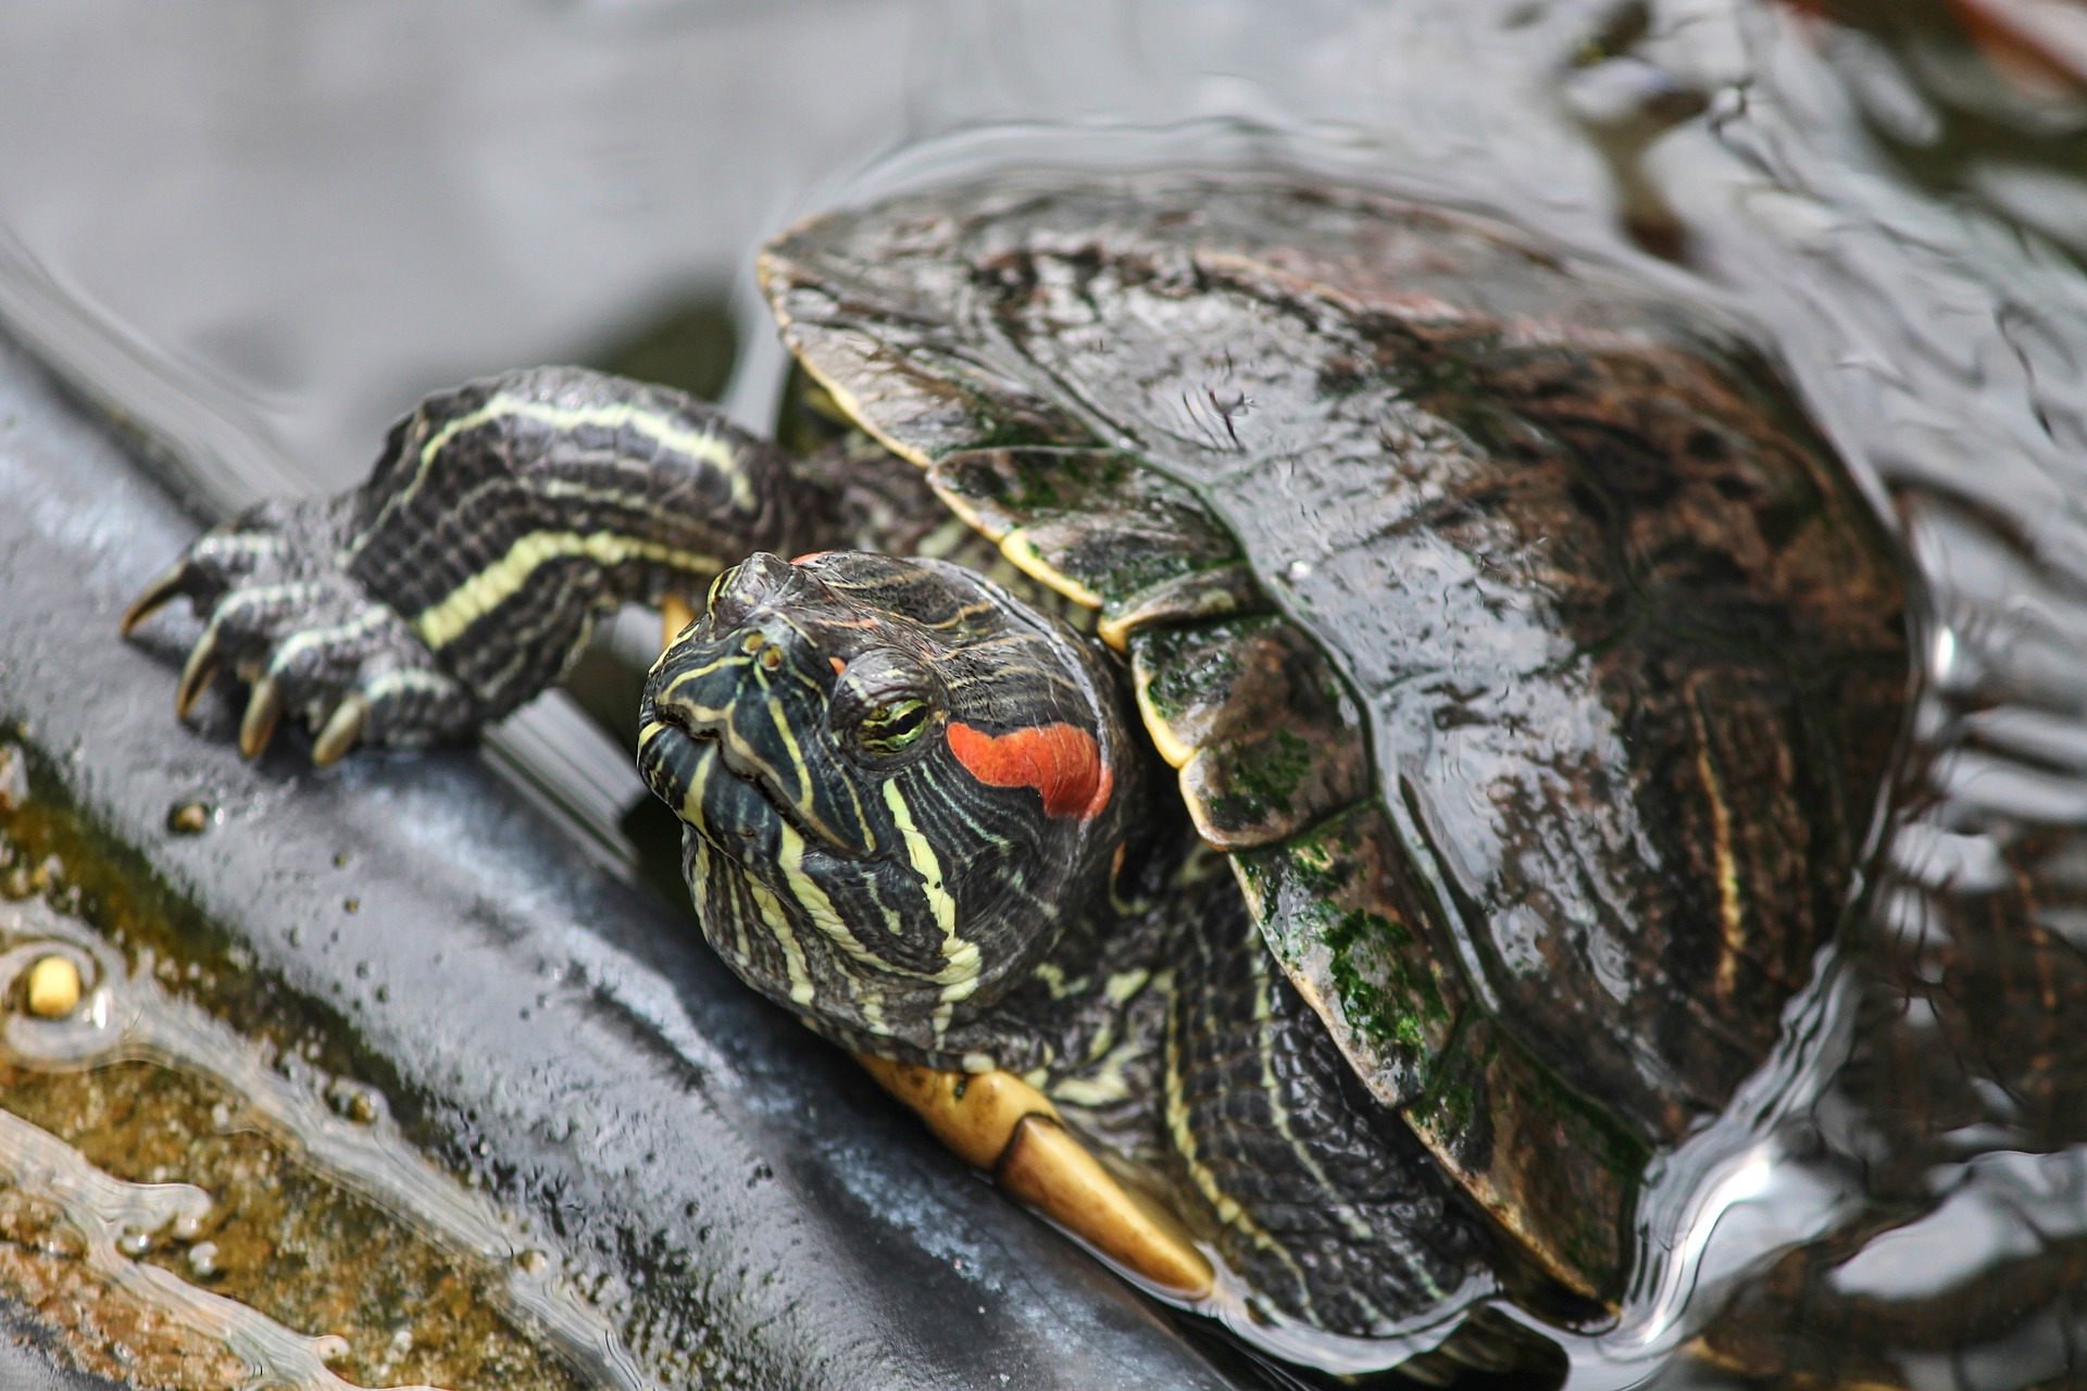
[[[1079,636],[939,561],[755,555],[645,682],[703,934],[829,1032],[943,1051],[1106,905],[1131,736]]]

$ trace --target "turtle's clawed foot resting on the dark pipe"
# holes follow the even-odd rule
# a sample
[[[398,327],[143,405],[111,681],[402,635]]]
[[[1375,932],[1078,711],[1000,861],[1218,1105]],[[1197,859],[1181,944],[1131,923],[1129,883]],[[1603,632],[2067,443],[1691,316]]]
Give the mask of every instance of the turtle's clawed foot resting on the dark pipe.
[[[338,503],[263,503],[200,538],[123,613],[125,636],[186,596],[205,619],[175,688],[188,717],[230,669],[250,682],[240,753],[259,757],[284,713],[313,730],[311,759],[357,742],[428,745],[480,724],[472,694],[340,565]]]

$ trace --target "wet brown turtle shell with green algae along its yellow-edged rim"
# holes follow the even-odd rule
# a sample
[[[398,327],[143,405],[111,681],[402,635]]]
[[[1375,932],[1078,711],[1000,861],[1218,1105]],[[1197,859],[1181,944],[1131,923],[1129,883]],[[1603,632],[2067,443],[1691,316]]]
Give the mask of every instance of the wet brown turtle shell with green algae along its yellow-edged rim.
[[[1569,1287],[1770,1053],[1905,701],[1893,551],[1745,336],[1476,217],[1000,179],[762,261],[803,367],[1100,611],[1354,1072]]]

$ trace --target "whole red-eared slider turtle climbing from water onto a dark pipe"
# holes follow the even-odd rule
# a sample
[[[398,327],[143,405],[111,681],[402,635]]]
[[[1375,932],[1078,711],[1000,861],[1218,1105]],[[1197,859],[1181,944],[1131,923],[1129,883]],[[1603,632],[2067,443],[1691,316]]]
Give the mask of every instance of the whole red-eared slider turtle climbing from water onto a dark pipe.
[[[1889,546],[1759,357],[1284,177],[895,198],[762,277],[822,448],[578,369],[438,394],[138,601],[209,613],[182,709],[230,665],[250,753],[467,736],[707,584],[639,761],[749,984],[1271,1347],[1601,1318],[1901,722]]]

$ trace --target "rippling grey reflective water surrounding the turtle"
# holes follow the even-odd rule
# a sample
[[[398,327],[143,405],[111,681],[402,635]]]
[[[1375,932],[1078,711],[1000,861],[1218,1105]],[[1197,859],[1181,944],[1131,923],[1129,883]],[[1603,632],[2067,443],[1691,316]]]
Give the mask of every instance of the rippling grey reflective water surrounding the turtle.
[[[1761,325],[1920,576],[1916,728],[1872,911],[1726,1122],[1665,1162],[1640,1283],[1615,1328],[1567,1343],[1572,1381],[2079,1374],[2087,88],[2064,63],[2087,8],[207,19],[0,15],[0,311],[165,438],[205,511],[340,488],[419,392],[532,361],[678,361],[701,384],[733,357],[724,400],[766,425],[755,242],[1023,161],[1279,158],[1505,213]],[[634,782],[568,705],[503,749],[605,855],[637,855]]]

